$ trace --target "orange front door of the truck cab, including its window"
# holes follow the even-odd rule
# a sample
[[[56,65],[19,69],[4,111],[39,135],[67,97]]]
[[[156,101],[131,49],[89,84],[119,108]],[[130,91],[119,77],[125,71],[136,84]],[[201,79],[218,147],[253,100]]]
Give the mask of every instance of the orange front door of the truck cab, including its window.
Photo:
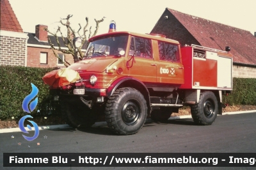
[[[129,76],[142,82],[156,82],[156,62],[153,59],[150,39],[131,37],[126,66]]]

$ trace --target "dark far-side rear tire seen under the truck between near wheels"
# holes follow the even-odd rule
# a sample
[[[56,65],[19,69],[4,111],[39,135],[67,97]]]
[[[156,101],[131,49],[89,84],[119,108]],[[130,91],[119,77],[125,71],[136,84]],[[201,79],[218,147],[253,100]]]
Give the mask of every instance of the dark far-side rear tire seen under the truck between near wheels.
[[[150,113],[150,118],[153,121],[166,122],[170,118],[171,114],[172,111],[170,110],[170,107],[160,107],[159,110],[153,110]]]

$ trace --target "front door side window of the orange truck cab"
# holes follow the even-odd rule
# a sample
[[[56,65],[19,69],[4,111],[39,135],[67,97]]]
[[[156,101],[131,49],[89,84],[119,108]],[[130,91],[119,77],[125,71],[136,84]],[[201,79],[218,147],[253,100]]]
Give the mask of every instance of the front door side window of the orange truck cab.
[[[145,50],[143,52],[141,49],[144,47],[145,47]],[[129,55],[131,56],[134,55],[140,58],[152,59],[153,56],[152,56],[151,41],[147,38],[132,36]]]

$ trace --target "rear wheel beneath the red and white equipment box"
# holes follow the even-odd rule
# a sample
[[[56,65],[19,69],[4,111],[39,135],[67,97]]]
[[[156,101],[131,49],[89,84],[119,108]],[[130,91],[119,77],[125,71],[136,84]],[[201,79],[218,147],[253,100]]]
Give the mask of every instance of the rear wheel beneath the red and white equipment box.
[[[211,125],[218,114],[218,100],[214,93],[200,93],[199,103],[191,106],[191,114],[196,124]]]

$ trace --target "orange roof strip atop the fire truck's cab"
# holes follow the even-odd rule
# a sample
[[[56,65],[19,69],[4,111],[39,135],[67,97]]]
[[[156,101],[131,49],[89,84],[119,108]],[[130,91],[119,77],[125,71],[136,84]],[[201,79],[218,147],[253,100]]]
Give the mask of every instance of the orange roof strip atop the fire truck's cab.
[[[92,38],[89,39],[89,42],[92,42],[93,40],[95,40],[95,39],[97,39],[101,36],[124,35],[124,34],[140,36],[140,37],[149,38],[149,39],[153,39],[153,40],[159,40],[159,41],[163,41],[163,42],[170,42],[170,43],[180,44],[178,41],[166,38],[164,35],[140,34],[140,33],[133,33],[133,32],[130,32],[130,31],[115,31],[115,32],[111,32],[111,33],[106,33],[106,34],[102,34],[102,35],[93,36]]]

